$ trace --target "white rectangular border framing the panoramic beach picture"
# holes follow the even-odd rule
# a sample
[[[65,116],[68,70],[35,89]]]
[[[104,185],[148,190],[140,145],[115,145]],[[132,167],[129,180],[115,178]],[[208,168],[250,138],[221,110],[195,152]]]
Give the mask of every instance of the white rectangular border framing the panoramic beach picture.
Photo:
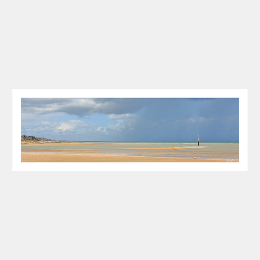
[[[21,98],[239,98],[239,162],[21,162]],[[13,89],[13,171],[247,171],[247,89]]]

